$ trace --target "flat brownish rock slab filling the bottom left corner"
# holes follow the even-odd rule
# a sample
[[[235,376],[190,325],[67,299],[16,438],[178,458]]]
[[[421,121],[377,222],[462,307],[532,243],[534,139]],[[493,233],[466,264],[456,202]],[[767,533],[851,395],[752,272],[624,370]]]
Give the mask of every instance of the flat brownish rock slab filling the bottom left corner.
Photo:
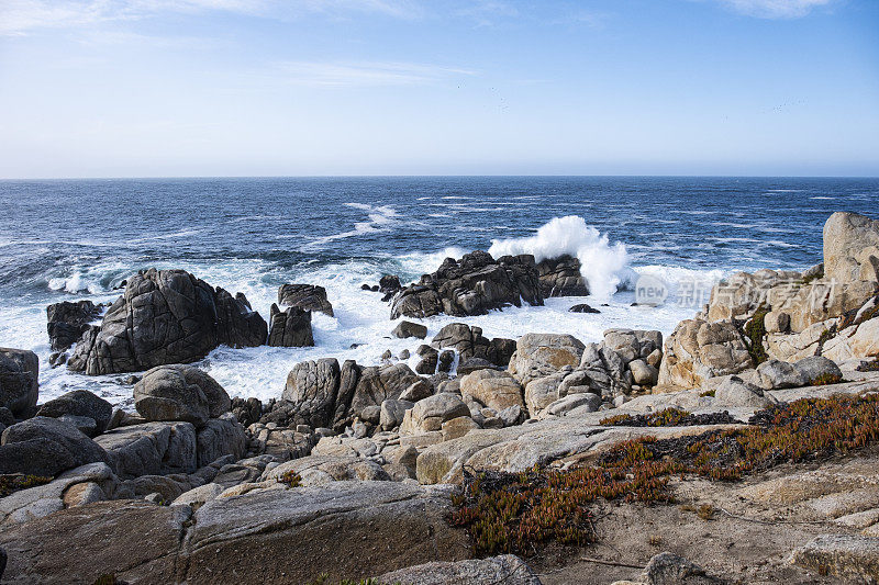
[[[0,532],[9,555],[3,583],[90,585],[104,574],[124,583],[175,583],[188,506],[99,502]]]

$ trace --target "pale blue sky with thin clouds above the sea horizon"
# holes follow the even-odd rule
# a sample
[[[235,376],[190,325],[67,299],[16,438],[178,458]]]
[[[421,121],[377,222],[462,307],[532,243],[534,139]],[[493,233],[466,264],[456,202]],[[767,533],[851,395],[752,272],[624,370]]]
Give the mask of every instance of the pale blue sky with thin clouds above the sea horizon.
[[[0,0],[0,178],[879,176],[879,0]]]

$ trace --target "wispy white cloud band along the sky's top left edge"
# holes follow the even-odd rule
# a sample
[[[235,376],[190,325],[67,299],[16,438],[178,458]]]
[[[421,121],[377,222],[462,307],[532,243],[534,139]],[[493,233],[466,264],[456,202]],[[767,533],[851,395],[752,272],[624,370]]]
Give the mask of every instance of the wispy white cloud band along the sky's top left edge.
[[[38,29],[76,29],[163,13],[233,12],[270,19],[305,14],[375,13],[397,19],[421,15],[413,0],[2,0],[0,35]]]

